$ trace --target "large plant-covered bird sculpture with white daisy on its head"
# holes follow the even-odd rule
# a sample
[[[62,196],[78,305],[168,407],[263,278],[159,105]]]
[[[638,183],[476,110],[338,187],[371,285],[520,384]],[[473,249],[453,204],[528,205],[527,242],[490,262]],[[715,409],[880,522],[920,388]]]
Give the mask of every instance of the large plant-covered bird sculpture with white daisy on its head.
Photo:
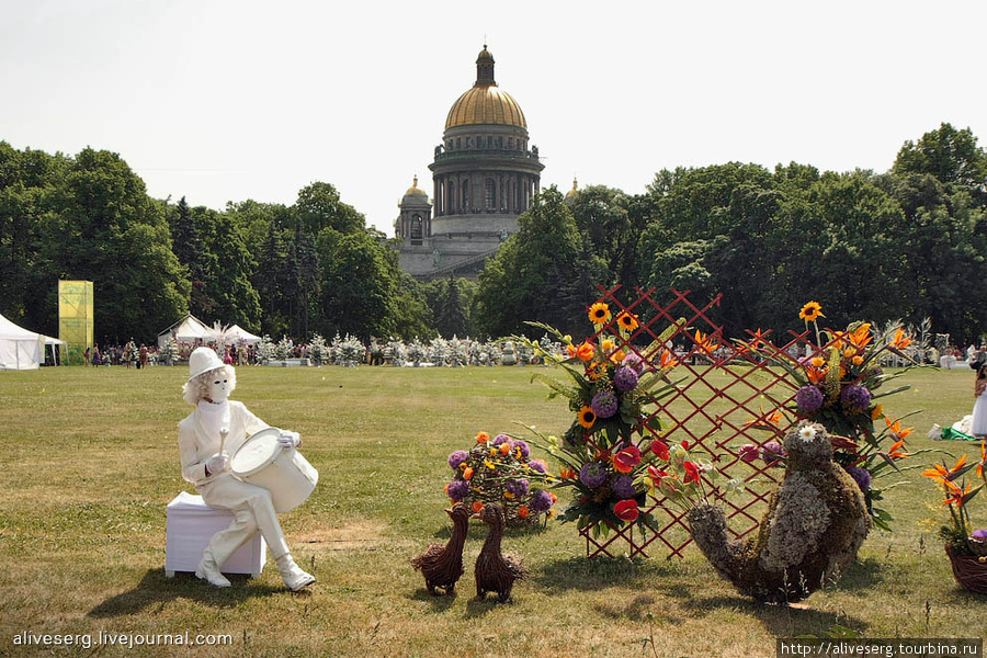
[[[727,536],[721,507],[703,503],[688,515],[692,537],[717,572],[740,593],[772,603],[799,601],[836,581],[870,526],[863,494],[832,461],[822,426],[803,423],[784,442],[784,477],[750,538]]]

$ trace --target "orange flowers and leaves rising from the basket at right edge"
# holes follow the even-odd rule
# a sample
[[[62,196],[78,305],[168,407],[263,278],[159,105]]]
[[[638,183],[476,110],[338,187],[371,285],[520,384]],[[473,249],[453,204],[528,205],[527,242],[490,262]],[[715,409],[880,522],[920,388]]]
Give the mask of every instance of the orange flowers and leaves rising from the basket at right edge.
[[[965,475],[976,468],[980,484],[973,488],[973,484],[965,479]],[[987,530],[972,530],[967,504],[977,494],[987,487],[987,444],[980,442],[980,461],[967,463],[966,455],[961,456],[950,467],[945,463],[933,464],[922,475],[942,486],[945,498],[943,504],[950,508],[950,522],[939,530],[939,536],[946,543],[946,547],[954,555],[975,555],[982,563],[987,563]]]

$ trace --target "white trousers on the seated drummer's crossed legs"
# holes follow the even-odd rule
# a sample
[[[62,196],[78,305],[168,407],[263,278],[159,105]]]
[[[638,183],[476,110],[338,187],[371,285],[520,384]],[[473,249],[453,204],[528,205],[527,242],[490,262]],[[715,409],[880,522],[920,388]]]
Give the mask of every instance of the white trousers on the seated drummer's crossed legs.
[[[209,551],[218,566],[222,567],[258,530],[274,559],[288,554],[270,491],[240,481],[229,473],[222,473],[213,481],[200,486],[198,492],[211,508],[236,514],[229,527],[220,530],[209,540]]]

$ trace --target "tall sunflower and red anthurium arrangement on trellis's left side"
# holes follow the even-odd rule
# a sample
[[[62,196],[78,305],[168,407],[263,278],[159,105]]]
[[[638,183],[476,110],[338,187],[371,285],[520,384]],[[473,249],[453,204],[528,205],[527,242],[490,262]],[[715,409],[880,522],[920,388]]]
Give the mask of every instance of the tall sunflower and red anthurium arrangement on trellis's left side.
[[[533,382],[549,388],[549,398],[565,397],[575,419],[561,440],[529,430],[536,435],[533,442],[561,464],[554,488],[572,490],[571,502],[559,519],[575,521],[579,530],[592,526],[599,536],[625,523],[654,525],[650,514],[643,511],[648,492],[645,476],[667,447],[655,438],[661,429],[655,411],[656,401],[673,386],[668,374],[676,361],[669,350],[661,350],[674,327],[642,352],[660,351],[660,364],[653,367],[631,349],[631,336],[639,327],[636,316],[622,311],[613,318],[609,305],[601,302],[589,308],[589,319],[594,334],[578,344],[553,327],[527,322],[564,344],[563,354],[548,348],[552,341],[512,339],[546,365],[561,367],[571,379],[532,376]]]

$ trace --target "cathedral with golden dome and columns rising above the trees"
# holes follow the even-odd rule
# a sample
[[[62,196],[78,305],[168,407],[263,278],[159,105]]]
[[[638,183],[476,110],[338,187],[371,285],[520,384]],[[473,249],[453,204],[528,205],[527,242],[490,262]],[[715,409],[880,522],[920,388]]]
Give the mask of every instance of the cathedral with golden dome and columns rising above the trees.
[[[450,109],[429,169],[432,202],[416,177],[399,204],[394,228],[401,270],[426,280],[475,279],[517,232],[544,169],[538,147],[529,146],[521,106],[497,84],[486,45],[476,82]]]

